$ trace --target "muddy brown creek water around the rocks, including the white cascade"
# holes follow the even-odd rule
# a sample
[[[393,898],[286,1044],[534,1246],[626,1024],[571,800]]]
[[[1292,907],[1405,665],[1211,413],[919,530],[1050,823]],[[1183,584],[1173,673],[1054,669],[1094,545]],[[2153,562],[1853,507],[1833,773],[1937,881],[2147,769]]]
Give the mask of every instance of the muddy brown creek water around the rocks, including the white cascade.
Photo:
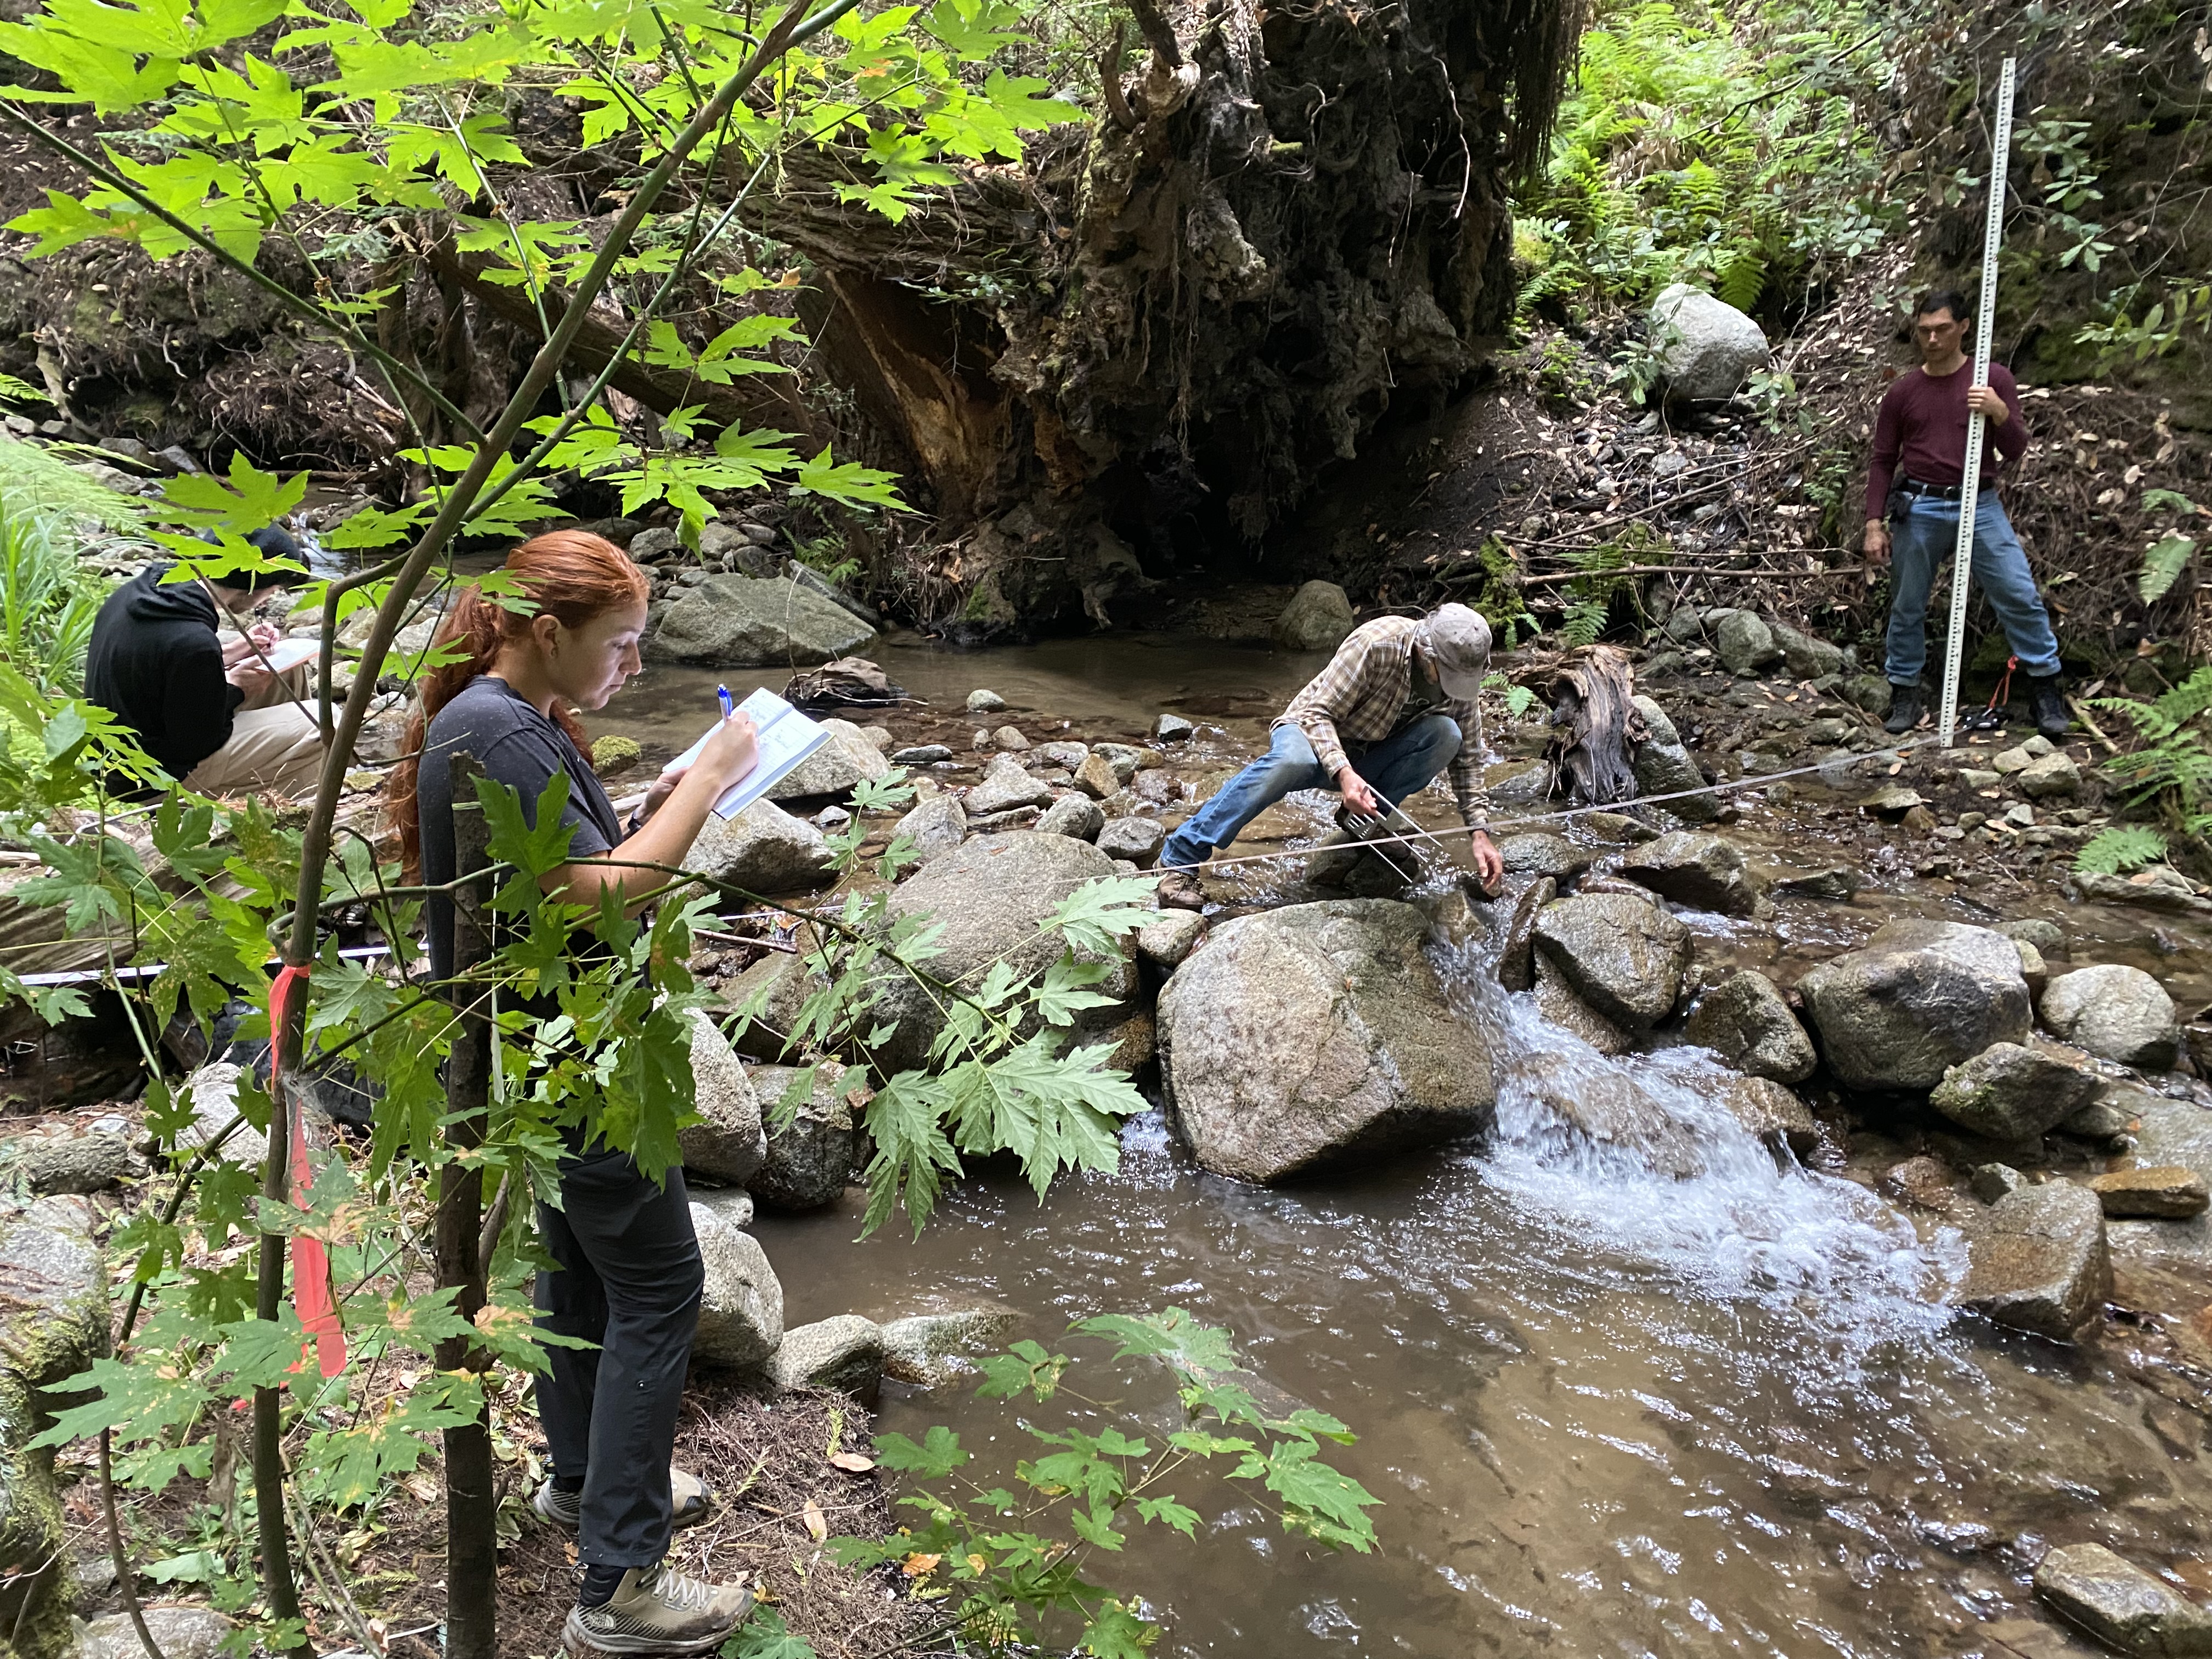
[[[1068,710],[1086,710],[1071,730],[1104,737],[1177,708],[1212,728],[1199,748],[1219,763],[1248,754],[1318,666],[1130,639],[980,655],[894,641],[878,661],[960,721],[967,692],[991,686],[1009,712],[971,723],[1011,719],[1031,739]],[[597,728],[677,748],[712,712],[714,679],[653,668]],[[1863,847],[1820,810],[1854,796],[1809,790],[1730,834],[1772,863],[1851,858]],[[1440,823],[1442,801],[1420,816]],[[1267,867],[1245,887],[1296,896]],[[1902,876],[1851,905],[1688,920],[1701,951],[1787,980],[1891,914],[2044,914],[2077,962],[2135,960],[2177,1000],[2212,995],[2188,927],[2068,907],[2046,885],[1984,898]],[[1383,1500],[1374,1555],[1316,1551],[1263,1493],[1183,1478],[1170,1489],[1203,1513],[1197,1546],[1139,1531],[1095,1564],[1166,1619],[1172,1655],[1995,1655],[1984,1621],[2042,1619],[2026,1575],[2046,1544],[2079,1537],[2212,1590],[2201,1418],[2177,1429],[2097,1349],[1951,1318],[1958,1232],[1776,1164],[1708,1106],[1694,1053],[1606,1060],[1500,993],[1480,958],[1440,967],[1506,1057],[1484,1141],[1261,1190],[1197,1170],[1150,1113],[1126,1128],[1117,1175],[1040,1203],[984,1168],[920,1239],[860,1241],[856,1206],[763,1217],[787,1321],[982,1296],[1077,1354],[1071,1383],[1102,1405],[885,1385],[880,1427],[951,1425],[980,1486],[1035,1455],[1018,1418],[1179,1425],[1164,1374],[1064,1334],[1102,1312],[1186,1307],[1228,1327],[1270,1389],[1343,1418],[1360,1440],[1332,1455]],[[1701,1168],[1677,1179],[1635,1148],[1590,1148],[1548,1104],[1559,1093],[1626,1095],[1694,1126]]]

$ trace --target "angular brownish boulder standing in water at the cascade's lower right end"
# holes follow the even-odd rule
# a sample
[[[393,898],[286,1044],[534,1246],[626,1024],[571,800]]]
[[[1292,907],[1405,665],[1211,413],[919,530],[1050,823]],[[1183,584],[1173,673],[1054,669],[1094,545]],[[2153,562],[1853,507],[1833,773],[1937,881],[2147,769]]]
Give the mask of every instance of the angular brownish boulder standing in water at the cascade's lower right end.
[[[1997,1325],[2070,1343],[2112,1290],[2104,1206],[2073,1181],[2006,1192],[1966,1230],[1953,1301]]]

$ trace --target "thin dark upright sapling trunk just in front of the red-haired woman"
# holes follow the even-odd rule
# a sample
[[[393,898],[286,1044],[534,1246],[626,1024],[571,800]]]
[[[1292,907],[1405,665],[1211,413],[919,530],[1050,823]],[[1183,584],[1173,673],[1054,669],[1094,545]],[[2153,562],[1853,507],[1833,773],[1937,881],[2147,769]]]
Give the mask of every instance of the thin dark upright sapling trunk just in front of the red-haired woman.
[[[476,805],[482,768],[471,754],[449,757],[453,779],[453,874],[473,876],[491,863],[489,825]],[[487,909],[491,883],[453,889],[453,973],[480,964],[489,951]],[[447,1146],[469,1152],[484,1144],[491,1104],[491,1020],[467,989],[453,991],[460,1035],[447,1060]],[[484,1172],[447,1164],[438,1177],[434,1252],[438,1287],[453,1287],[456,1312],[473,1321],[484,1307],[482,1228]],[[469,1365],[469,1338],[438,1343],[438,1369]],[[500,1617],[498,1486],[491,1467],[491,1425],[484,1416],[445,1431],[445,1652],[449,1659],[495,1659]]]

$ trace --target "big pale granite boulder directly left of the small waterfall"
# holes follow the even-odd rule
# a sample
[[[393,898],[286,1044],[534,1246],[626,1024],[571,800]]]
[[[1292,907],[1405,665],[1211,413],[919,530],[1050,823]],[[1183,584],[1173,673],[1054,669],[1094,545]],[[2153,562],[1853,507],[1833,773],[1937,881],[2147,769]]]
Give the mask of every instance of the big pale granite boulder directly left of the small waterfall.
[[[1175,1115],[1199,1164],[1285,1181],[1482,1128],[1491,1055],[1387,898],[1290,905],[1217,927],[1159,998]]]

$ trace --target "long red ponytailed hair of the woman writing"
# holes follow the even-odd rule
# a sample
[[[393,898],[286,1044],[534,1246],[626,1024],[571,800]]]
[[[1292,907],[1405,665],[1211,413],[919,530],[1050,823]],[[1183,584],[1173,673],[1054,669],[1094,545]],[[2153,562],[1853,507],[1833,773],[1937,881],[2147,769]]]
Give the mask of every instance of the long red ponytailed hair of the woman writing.
[[[414,708],[407,712],[407,734],[400,739],[400,763],[385,783],[385,812],[400,832],[400,865],[407,880],[422,876],[422,816],[416,803],[416,770],[422,757],[422,739],[438,710],[451,703],[462,688],[491,668],[500,646],[520,637],[538,615],[553,617],[564,628],[582,628],[593,617],[630,604],[644,604],[650,595],[646,573],[630,564],[630,555],[602,535],[586,531],[551,531],[533,535],[507,555],[502,566],[515,584],[538,606],[535,613],[509,611],[487,599],[476,584],[460,591],[460,597],[438,624],[434,644],[460,646],[460,661],[429,668],[420,684]],[[584,728],[575,714],[553,703],[553,719],[568,732],[586,754],[591,752]]]

